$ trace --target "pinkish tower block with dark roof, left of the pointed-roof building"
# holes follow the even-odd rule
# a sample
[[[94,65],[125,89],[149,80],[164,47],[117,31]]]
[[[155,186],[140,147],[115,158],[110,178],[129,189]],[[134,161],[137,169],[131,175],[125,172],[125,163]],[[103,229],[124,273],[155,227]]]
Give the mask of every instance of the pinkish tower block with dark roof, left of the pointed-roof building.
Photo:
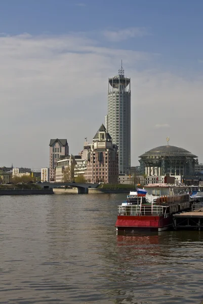
[[[51,139],[50,140],[50,181],[55,181],[54,168],[57,166],[57,161],[61,157],[69,155],[69,147],[67,139]]]

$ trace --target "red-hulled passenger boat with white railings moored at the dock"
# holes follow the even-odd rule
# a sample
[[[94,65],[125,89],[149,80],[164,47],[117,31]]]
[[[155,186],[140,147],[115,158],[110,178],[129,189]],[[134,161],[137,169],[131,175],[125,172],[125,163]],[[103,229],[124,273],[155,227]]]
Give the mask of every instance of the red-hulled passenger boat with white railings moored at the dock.
[[[168,230],[173,223],[173,214],[190,208],[189,195],[187,193],[154,196],[154,199],[150,201],[149,198],[151,196],[146,196],[146,189],[145,196],[140,196],[140,192],[141,189],[138,189],[133,202],[132,198],[127,198],[126,203],[118,206],[115,223],[117,231],[134,232],[139,229],[151,231]],[[171,186],[169,193],[174,193]]]

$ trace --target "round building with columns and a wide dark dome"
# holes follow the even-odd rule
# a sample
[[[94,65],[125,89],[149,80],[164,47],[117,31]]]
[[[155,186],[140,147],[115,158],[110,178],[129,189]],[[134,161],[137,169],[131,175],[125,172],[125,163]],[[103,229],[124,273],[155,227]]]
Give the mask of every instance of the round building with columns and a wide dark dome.
[[[172,145],[153,148],[139,156],[139,162],[145,165],[146,175],[194,175],[197,156]]]

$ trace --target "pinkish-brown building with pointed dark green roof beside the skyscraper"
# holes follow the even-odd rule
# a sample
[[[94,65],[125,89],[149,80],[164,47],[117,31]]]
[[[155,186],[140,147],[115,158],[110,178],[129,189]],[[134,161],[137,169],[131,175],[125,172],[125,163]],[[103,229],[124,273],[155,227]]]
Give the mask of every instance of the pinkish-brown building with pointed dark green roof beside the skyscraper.
[[[117,183],[118,149],[103,124],[88,145],[85,178],[89,182]]]

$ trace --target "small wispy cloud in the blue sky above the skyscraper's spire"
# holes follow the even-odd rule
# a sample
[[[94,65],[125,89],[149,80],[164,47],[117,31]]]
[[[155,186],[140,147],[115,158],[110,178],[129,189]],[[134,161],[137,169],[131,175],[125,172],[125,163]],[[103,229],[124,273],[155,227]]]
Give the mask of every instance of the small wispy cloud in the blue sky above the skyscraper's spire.
[[[103,35],[108,41],[119,42],[134,37],[142,37],[148,35],[144,27],[129,27],[121,30],[106,30]]]

